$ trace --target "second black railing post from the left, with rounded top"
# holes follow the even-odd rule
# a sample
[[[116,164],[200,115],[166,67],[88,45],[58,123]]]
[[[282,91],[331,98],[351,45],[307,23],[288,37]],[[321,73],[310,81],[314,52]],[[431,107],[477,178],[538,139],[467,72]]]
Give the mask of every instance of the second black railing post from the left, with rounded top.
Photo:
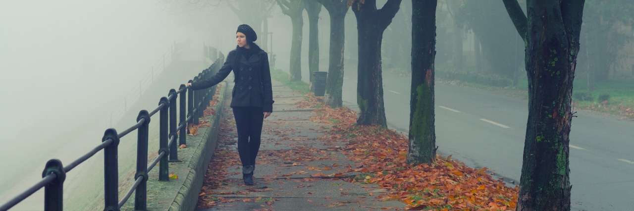
[[[112,143],[103,148],[103,210],[119,210],[119,136],[117,130],[107,129],[101,142],[112,139]]]

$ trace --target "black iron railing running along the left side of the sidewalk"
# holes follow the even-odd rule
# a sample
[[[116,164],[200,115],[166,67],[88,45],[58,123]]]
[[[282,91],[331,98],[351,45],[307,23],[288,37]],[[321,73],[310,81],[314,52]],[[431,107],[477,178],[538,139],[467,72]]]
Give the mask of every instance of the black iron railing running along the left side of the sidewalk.
[[[207,69],[203,70],[197,77],[189,82],[207,79],[216,74],[223,65],[224,55],[220,54],[219,58]],[[124,203],[134,193],[134,210],[146,210],[147,208],[147,181],[148,172],[150,172],[157,163],[159,163],[159,181],[169,181],[169,165],[170,160],[178,160],[178,145],[186,144],[186,133],[188,133],[188,124],[198,125],[198,120],[203,116],[204,110],[209,106],[209,101],[216,93],[216,86],[198,91],[191,91],[190,88],[181,84],[178,90],[171,89],[167,97],[159,100],[159,106],[148,112],[141,110],[137,122],[123,132],[110,128],[107,129],[101,144],[86,155],[77,158],[74,162],[64,166],[58,159],[51,159],[46,162],[46,167],[42,172],[42,180],[26,191],[15,196],[13,199],[0,206],[0,210],[8,210],[20,201],[29,197],[41,188],[44,188],[44,210],[62,210],[63,209],[63,183],[66,174],[77,165],[93,157],[96,153],[103,150],[104,155],[104,209],[103,210],[119,210]],[[179,103],[176,101],[179,99]],[[179,120],[177,126],[176,109],[179,109]],[[153,115],[159,113],[159,155],[148,165],[148,136],[150,128],[150,119]],[[169,125],[169,126],[168,126]],[[126,136],[130,132],[138,130],[137,153],[136,153],[136,174],[134,175],[134,184],[127,191],[126,195],[119,200],[119,161],[117,147],[121,137]],[[178,131],[178,132],[177,132]],[[178,140],[178,145],[176,144]]]

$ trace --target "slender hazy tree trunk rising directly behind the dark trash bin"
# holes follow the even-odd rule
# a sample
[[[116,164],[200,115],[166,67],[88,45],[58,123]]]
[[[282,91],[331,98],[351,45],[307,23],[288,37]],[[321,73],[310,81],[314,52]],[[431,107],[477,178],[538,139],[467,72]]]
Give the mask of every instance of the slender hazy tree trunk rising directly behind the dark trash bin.
[[[313,88],[313,72],[319,71],[319,13],[321,4],[316,1],[304,1],[306,13],[308,13],[308,75],[309,89]]]

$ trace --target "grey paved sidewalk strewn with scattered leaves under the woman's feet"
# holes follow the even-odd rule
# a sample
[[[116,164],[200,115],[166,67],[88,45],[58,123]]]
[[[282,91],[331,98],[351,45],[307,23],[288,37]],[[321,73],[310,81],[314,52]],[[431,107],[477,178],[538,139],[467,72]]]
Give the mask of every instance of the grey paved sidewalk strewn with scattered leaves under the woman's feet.
[[[228,87],[231,90],[232,87]],[[309,108],[295,103],[304,96],[273,81],[274,112],[264,120],[254,186],[245,186],[237,156],[235,120],[226,100],[219,143],[210,169],[225,165],[221,180],[208,170],[196,210],[371,210],[404,208],[400,201],[380,201],[384,189],[343,181],[354,162],[343,155],[346,143],[320,139],[330,125],[312,122]],[[231,94],[227,94],[228,98]],[[221,151],[219,153],[219,151]],[[219,157],[224,156],[225,159]],[[224,164],[223,164],[224,163]],[[222,171],[222,170],[220,170]],[[216,184],[216,185],[214,185]],[[206,187],[205,187],[206,186]],[[213,188],[213,189],[211,189]],[[202,202],[202,203],[201,203]]]

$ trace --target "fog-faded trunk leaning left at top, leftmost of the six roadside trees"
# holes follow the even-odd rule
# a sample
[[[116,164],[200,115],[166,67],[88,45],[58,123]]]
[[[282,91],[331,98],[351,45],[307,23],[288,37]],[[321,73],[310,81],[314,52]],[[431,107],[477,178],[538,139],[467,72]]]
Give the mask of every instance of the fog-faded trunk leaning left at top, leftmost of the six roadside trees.
[[[290,65],[288,80],[302,80],[302,27],[304,27],[304,3],[302,1],[276,0],[282,13],[290,17],[293,35],[290,42]]]

